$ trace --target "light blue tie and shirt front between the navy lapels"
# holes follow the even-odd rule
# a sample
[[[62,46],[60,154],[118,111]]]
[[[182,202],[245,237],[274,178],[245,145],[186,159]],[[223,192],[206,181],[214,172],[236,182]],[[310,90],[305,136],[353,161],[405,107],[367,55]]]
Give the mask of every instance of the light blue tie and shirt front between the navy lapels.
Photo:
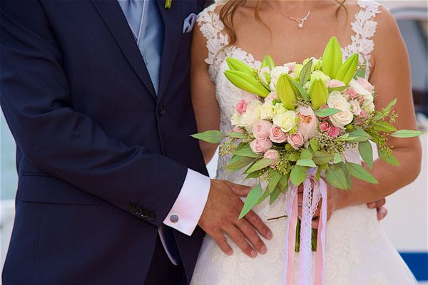
[[[164,33],[158,4],[156,0],[118,0],[118,3],[131,27],[157,94]]]

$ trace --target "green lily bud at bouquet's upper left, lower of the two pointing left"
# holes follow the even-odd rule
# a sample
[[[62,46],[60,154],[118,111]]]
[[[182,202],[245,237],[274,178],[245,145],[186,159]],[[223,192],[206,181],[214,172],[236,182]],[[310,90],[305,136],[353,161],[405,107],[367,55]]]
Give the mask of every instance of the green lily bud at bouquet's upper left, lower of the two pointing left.
[[[258,81],[253,74],[244,71],[225,71],[225,76],[234,86],[247,92],[266,98],[269,90]]]

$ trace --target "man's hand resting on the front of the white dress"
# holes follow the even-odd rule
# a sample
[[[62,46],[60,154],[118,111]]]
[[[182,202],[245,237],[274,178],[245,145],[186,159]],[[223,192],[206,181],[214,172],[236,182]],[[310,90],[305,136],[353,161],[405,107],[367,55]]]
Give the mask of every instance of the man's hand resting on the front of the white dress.
[[[232,254],[232,248],[226,241],[225,235],[235,242],[249,257],[256,257],[256,249],[265,254],[267,248],[260,239],[272,239],[272,232],[253,211],[238,219],[243,202],[239,197],[245,197],[250,187],[237,185],[223,180],[211,180],[210,194],[199,219],[199,226],[217,242],[225,254]]]

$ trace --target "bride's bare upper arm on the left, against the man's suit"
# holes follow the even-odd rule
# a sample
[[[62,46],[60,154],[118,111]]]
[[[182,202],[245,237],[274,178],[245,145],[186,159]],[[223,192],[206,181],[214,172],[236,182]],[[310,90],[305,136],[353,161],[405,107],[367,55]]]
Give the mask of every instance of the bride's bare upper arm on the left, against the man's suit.
[[[208,75],[208,64],[205,58],[208,56],[206,40],[200,29],[193,29],[192,63],[190,67],[190,83],[192,91],[192,103],[195,110],[198,133],[205,130],[219,130],[220,110],[215,98],[215,85]],[[217,145],[199,141],[205,163],[213,158]]]

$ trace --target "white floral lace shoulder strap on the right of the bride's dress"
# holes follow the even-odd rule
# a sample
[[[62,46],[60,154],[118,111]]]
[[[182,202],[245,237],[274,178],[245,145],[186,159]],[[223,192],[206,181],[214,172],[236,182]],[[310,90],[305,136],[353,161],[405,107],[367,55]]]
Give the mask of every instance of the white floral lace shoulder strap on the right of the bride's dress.
[[[358,53],[360,65],[366,65],[366,79],[370,76],[370,55],[374,49],[373,36],[376,33],[377,22],[374,18],[379,11],[379,4],[372,0],[359,0],[360,11],[355,14],[355,21],[351,23],[354,35],[351,36],[352,42],[343,49],[345,58]]]

